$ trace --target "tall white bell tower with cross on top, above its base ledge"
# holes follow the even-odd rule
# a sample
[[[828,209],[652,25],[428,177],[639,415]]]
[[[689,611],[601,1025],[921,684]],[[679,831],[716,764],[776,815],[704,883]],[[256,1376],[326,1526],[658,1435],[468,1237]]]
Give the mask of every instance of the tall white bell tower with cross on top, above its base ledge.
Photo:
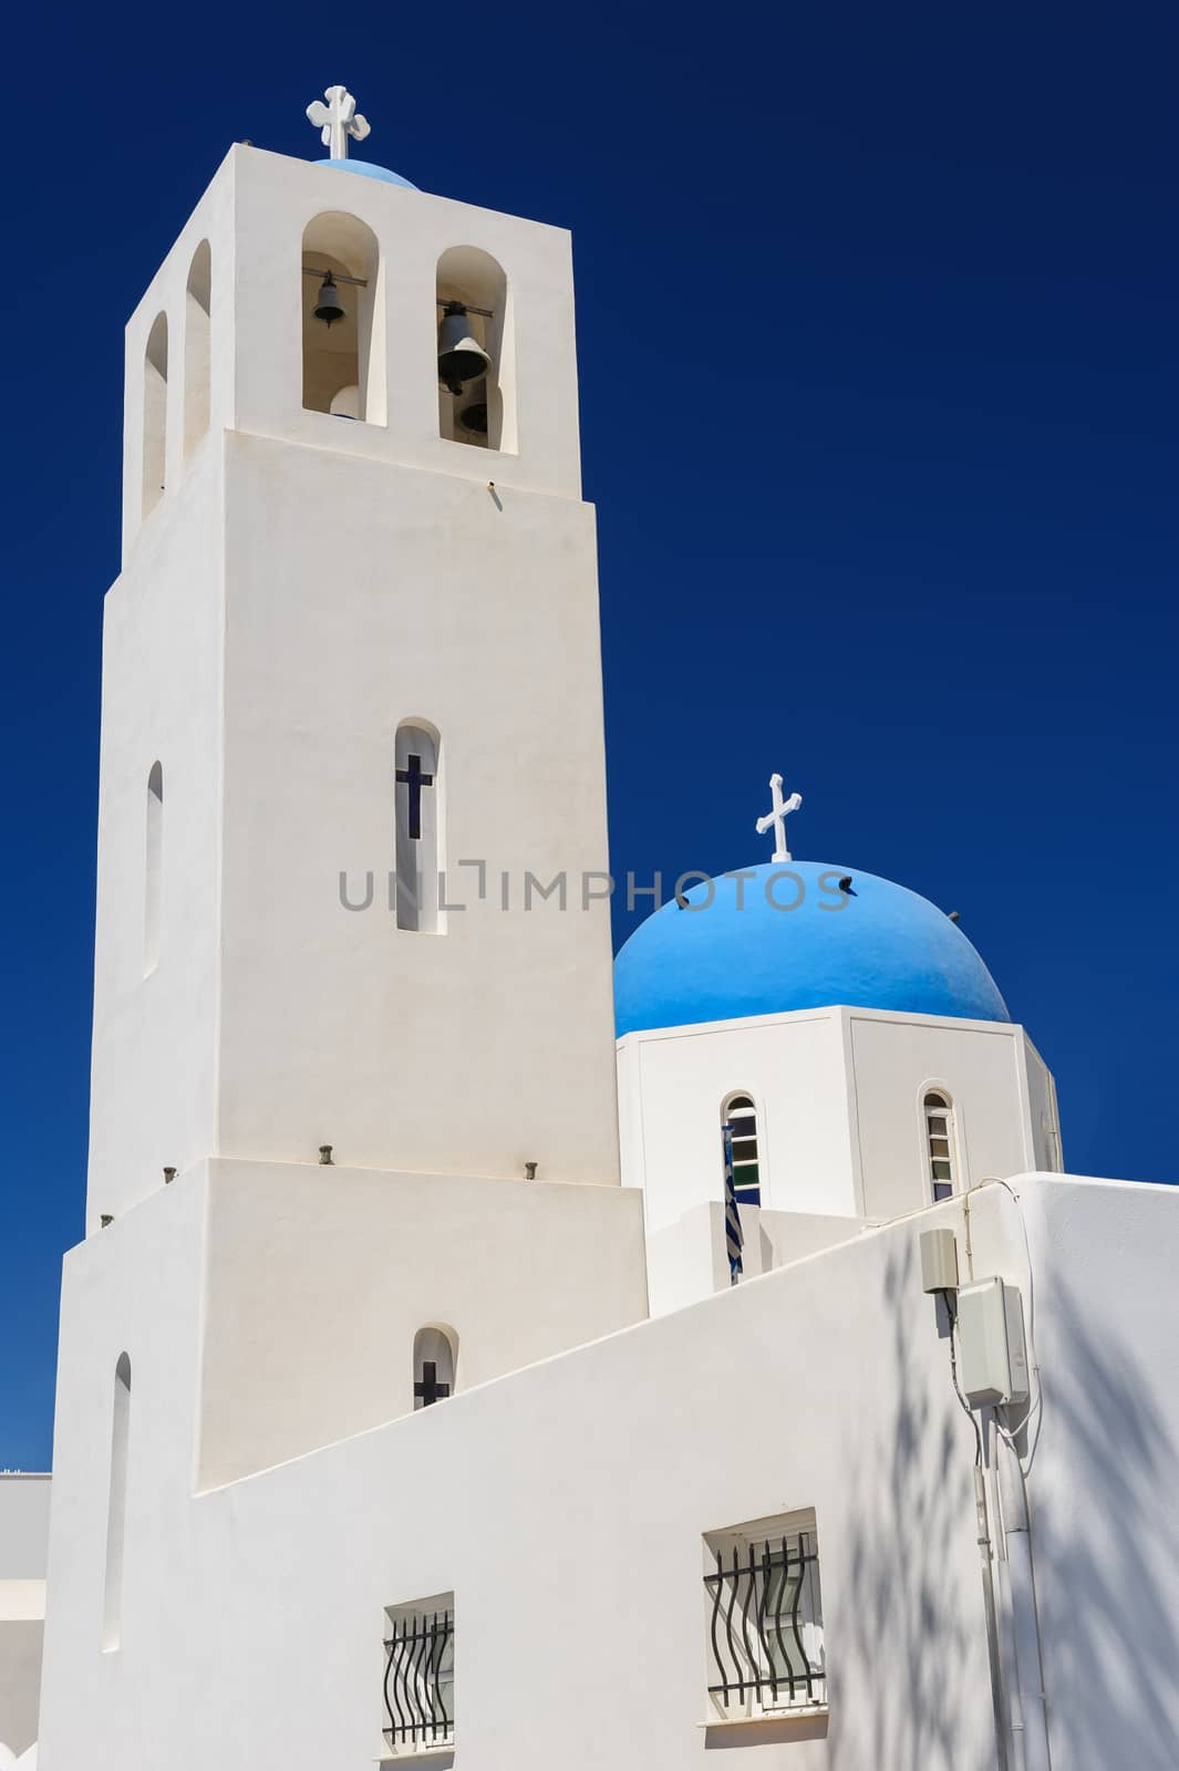
[[[207,1156],[618,1179],[570,241],[308,115],[127,326],[90,1229]]]

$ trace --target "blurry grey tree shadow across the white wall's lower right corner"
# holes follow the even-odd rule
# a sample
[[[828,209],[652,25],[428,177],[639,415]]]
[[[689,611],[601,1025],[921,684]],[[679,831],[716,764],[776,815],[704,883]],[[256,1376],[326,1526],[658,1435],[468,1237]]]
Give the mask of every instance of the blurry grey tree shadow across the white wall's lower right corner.
[[[938,1328],[933,1300],[915,1311],[913,1296],[915,1236],[889,1256],[882,1280],[892,1410],[855,1473],[850,1587],[828,1613],[830,1762],[993,1771],[982,1580],[963,1603],[947,1578],[963,1543],[974,1555],[974,1433],[945,1341],[944,1392],[926,1387],[924,1337]],[[864,1312],[866,1325],[878,1319],[875,1307]],[[1142,1381],[1142,1355],[1106,1323],[1098,1337],[1059,1275],[1053,1335],[1071,1351],[1046,1376],[1030,1496],[1055,1771],[1175,1771],[1177,1447]],[[1053,1516],[1050,1496],[1037,1502],[1046,1447],[1082,1486],[1082,1511],[1057,1505]]]

